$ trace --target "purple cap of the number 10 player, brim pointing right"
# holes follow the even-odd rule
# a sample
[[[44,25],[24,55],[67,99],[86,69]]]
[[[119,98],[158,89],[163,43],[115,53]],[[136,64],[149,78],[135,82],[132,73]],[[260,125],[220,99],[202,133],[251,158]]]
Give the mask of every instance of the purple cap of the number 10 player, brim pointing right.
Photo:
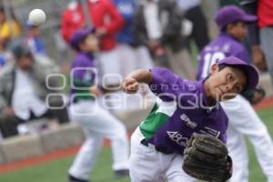
[[[257,20],[256,15],[248,15],[244,10],[236,5],[226,5],[218,10],[215,17],[215,21],[219,29],[223,29],[225,25],[242,21],[246,23],[255,22]]]

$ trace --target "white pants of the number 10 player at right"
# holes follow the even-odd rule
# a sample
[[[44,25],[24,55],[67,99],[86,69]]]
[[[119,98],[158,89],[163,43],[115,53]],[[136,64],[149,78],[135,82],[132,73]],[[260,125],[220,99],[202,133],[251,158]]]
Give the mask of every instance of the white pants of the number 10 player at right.
[[[265,124],[243,96],[236,96],[221,105],[229,119],[227,148],[233,159],[230,182],[248,182],[248,148],[244,135],[255,148],[258,163],[268,182],[273,182],[273,143]]]

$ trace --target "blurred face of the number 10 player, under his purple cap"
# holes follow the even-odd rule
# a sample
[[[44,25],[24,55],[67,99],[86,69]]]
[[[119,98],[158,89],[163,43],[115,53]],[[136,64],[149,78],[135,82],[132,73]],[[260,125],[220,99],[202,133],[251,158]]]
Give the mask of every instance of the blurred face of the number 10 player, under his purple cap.
[[[238,41],[243,41],[243,39],[248,35],[247,24],[244,22],[238,22],[236,24],[228,25],[227,33],[238,39]]]

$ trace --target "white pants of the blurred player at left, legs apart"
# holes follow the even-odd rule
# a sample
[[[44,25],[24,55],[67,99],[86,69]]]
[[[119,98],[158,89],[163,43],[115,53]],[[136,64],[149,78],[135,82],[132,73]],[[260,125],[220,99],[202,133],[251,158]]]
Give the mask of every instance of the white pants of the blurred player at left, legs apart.
[[[126,127],[95,101],[80,101],[69,108],[70,116],[82,126],[86,141],[80,148],[69,174],[87,179],[93,169],[103,139],[111,141],[113,170],[128,169],[129,144]]]

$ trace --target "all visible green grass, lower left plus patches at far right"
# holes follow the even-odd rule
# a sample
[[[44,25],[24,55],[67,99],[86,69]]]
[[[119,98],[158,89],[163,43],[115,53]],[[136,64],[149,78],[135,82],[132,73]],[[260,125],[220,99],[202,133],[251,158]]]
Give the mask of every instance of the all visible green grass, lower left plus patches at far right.
[[[273,114],[272,108],[268,108],[258,112],[263,121],[268,126],[268,130],[273,136]],[[249,182],[264,182],[266,177],[263,176],[260,167],[258,166],[257,159],[254,155],[253,147],[249,145],[249,168],[250,177]],[[25,167],[3,175],[0,175],[1,182],[65,182],[67,169],[72,164],[73,157],[66,157],[60,160],[49,161],[41,165],[32,167]],[[112,169],[112,158],[110,147],[106,147],[100,153],[96,168],[90,178],[96,182],[129,182],[129,178],[116,179]]]

